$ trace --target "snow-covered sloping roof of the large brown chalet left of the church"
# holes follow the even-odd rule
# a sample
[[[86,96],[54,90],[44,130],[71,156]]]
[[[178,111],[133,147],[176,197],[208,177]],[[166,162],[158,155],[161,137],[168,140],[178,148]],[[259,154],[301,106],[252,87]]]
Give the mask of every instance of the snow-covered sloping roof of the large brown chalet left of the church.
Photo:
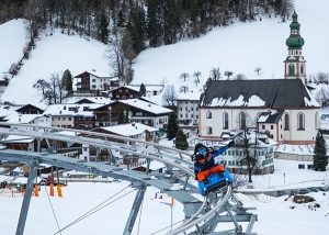
[[[160,107],[154,103],[146,102],[144,100],[139,99],[128,99],[128,100],[118,100],[118,102],[128,104],[131,107],[138,108],[140,110],[145,110],[147,112],[154,113],[154,114],[167,114],[171,113],[172,110],[167,109],[164,107]]]

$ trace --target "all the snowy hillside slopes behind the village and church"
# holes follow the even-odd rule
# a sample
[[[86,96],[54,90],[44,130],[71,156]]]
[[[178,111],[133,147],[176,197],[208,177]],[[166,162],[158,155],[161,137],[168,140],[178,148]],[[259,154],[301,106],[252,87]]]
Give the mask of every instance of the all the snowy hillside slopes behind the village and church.
[[[300,33],[305,38],[303,53],[307,60],[307,74],[328,71],[327,60],[321,55],[329,53],[329,2],[296,0],[295,5],[302,24]],[[219,67],[222,74],[231,70],[234,75],[241,72],[248,78],[282,78],[291,19],[285,23],[279,21],[279,18],[263,18],[257,22],[235,23],[214,29],[200,38],[147,49],[135,59],[133,83],[167,81],[174,83],[175,88],[189,86],[191,89],[192,78],[183,82],[179,80],[179,76],[182,72],[192,76],[193,72],[201,71],[203,85],[213,67]],[[26,41],[23,21],[13,20],[0,25],[0,53],[5,55],[0,58],[0,71],[3,72],[22,55]],[[53,36],[44,34],[1,101],[38,103],[42,96],[33,89],[33,83],[41,78],[49,79],[52,74],[60,74],[65,69],[70,69],[73,76],[90,69],[110,74],[106,51],[104,44],[94,40],[67,36],[59,31]],[[254,72],[257,67],[261,68],[259,76]]]

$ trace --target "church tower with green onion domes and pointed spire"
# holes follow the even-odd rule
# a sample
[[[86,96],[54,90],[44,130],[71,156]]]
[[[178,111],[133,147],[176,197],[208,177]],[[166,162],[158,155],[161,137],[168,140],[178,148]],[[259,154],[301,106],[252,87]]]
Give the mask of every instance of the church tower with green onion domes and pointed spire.
[[[291,23],[291,36],[285,41],[288,47],[288,56],[284,60],[284,78],[286,79],[306,79],[306,60],[302,55],[304,38],[299,34],[300,24],[297,21],[298,15],[294,11],[293,22]]]

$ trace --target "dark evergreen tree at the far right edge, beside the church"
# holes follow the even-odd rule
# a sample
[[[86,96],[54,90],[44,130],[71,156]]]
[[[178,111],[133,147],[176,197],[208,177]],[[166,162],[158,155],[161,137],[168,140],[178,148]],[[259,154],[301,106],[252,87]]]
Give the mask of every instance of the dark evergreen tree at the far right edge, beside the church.
[[[324,135],[318,132],[313,157],[314,169],[317,171],[325,171],[328,165],[328,156],[326,149],[326,141]]]

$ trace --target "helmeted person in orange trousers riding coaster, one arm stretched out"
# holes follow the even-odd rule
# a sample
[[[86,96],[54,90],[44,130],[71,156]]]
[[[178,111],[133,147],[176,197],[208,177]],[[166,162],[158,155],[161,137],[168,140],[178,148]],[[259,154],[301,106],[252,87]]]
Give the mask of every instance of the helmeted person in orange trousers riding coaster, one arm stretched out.
[[[196,144],[194,148],[194,155],[192,157],[192,160],[194,160],[195,180],[207,184],[209,176],[218,174],[219,177],[223,177],[224,172],[226,171],[225,166],[215,164],[214,158],[222,155],[234,144],[234,141],[230,141],[228,145],[213,150],[209,150],[209,148],[203,144]]]

